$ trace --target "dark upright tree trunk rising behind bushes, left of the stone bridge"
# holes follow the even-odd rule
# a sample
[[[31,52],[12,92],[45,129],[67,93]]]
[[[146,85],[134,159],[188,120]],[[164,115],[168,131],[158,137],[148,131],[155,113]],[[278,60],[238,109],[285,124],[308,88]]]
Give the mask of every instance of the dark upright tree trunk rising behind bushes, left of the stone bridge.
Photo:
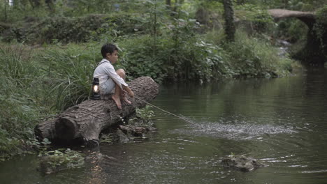
[[[235,40],[235,24],[234,24],[234,11],[233,3],[231,0],[224,0],[224,17],[225,17],[225,33],[228,41]]]

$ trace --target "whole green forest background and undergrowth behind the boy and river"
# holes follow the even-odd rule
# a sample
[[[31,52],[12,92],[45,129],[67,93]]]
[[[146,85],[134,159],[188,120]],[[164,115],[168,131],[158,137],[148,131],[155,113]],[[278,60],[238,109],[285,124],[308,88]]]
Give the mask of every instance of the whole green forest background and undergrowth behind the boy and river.
[[[27,153],[38,144],[37,123],[89,98],[103,43],[119,47],[116,67],[128,80],[283,77],[300,67],[292,56],[305,45],[307,26],[296,18],[274,22],[267,10],[327,17],[326,0],[228,2],[232,40],[219,0],[2,0],[0,160]]]

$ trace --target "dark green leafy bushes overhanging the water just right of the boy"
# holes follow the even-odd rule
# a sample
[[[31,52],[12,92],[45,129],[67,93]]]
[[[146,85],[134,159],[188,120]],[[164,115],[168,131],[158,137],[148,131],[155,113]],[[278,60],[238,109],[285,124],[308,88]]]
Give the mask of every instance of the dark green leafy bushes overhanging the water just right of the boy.
[[[163,80],[203,80],[218,77],[226,67],[219,56],[219,47],[205,43],[202,38],[191,37],[185,40],[173,40],[170,36],[161,36],[157,40],[157,53],[153,54],[152,42],[148,36],[122,40],[124,59],[120,64],[133,77],[150,76],[157,82]],[[227,65],[227,63],[226,63]],[[219,73],[218,73],[219,75]]]

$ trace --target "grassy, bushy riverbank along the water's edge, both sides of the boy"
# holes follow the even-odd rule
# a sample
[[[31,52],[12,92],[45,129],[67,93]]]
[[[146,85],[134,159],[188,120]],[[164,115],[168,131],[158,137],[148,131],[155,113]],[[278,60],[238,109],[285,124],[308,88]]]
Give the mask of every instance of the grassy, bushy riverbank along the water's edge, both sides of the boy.
[[[169,56],[168,38],[158,39],[158,52],[150,52],[147,36],[117,40],[116,68],[127,80],[142,75],[157,82],[208,82],[239,77],[283,77],[292,61],[279,57],[265,40],[238,33],[235,43],[214,45],[196,38]],[[215,40],[217,41],[217,40]],[[1,43],[1,159],[24,153],[34,139],[34,127],[44,118],[89,98],[92,72],[101,60],[101,43],[35,45]],[[168,53],[168,54],[167,54]],[[178,56],[177,59],[172,59]],[[175,62],[175,63],[174,63]],[[10,137],[10,138],[9,138]]]

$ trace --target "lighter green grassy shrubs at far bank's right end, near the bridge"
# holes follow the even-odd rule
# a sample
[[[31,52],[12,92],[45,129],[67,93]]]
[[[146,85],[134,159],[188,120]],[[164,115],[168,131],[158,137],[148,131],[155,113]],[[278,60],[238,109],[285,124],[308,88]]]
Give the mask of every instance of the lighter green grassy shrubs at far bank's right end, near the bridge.
[[[280,58],[278,50],[259,38],[238,32],[235,43],[226,45],[235,76],[277,77],[291,71],[291,61]]]

